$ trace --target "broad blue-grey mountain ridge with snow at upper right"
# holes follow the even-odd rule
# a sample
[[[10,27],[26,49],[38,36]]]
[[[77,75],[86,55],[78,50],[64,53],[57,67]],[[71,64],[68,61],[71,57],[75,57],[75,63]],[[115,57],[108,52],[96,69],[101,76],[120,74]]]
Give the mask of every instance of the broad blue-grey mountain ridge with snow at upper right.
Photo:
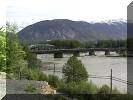
[[[68,19],[40,21],[18,32],[20,41],[39,42],[56,39],[93,41],[125,39],[127,24],[124,21],[88,23]]]

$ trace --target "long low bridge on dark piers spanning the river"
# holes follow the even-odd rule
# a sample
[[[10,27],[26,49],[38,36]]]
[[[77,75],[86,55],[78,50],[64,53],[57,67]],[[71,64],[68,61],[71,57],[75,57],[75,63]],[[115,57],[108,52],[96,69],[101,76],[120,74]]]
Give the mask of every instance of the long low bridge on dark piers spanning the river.
[[[63,54],[73,54],[74,56],[80,56],[80,53],[89,52],[89,56],[95,55],[95,51],[104,51],[105,55],[110,55],[110,52],[119,53],[120,56],[127,55],[126,48],[74,48],[74,49],[41,49],[31,48],[32,53],[35,54],[54,54],[54,58],[63,58]]]

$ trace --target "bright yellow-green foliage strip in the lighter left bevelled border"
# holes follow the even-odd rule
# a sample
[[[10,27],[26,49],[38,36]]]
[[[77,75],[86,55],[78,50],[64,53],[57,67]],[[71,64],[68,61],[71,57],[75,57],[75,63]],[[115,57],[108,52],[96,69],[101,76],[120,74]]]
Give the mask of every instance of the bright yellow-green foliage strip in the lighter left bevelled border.
[[[0,71],[6,70],[6,33],[0,30]]]

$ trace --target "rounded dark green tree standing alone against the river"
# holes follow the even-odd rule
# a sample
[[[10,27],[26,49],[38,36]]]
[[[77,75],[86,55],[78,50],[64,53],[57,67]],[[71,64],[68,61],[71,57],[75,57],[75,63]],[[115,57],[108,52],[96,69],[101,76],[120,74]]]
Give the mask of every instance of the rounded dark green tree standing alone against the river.
[[[67,63],[63,66],[62,72],[66,82],[79,82],[88,79],[88,73],[84,65],[75,56],[68,59]]]

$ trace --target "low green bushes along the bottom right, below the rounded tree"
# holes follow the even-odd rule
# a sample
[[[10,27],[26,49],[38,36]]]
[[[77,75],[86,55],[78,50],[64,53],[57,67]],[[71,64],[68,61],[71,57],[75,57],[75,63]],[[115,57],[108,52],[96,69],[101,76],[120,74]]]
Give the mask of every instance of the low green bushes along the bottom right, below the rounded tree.
[[[107,85],[103,85],[101,88],[97,88],[91,81],[80,81],[65,83],[63,80],[58,84],[58,91],[69,95],[70,98],[76,98],[77,100],[132,100],[133,96],[128,94],[120,94],[120,92],[114,88],[112,95],[110,95],[110,88]]]

